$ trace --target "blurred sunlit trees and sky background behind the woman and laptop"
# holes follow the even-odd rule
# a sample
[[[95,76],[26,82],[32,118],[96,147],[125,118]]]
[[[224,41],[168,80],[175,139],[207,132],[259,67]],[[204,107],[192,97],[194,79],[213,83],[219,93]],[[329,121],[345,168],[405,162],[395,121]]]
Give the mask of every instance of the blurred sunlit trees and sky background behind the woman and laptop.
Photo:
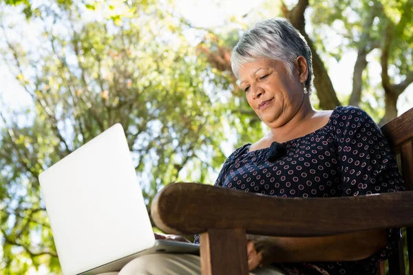
[[[317,109],[413,107],[411,0],[0,0],[0,274],[60,274],[38,175],[116,122],[148,209],[172,181],[213,184],[267,131],[229,61],[271,17],[308,40]]]

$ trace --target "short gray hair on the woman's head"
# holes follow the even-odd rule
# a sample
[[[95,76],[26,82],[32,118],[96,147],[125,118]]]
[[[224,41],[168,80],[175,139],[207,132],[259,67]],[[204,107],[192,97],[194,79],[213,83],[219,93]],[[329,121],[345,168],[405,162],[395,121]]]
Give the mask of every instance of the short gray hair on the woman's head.
[[[284,62],[288,75],[293,77],[294,63],[298,56],[304,56],[307,60],[308,78],[304,85],[311,92],[314,79],[313,57],[306,39],[287,19],[268,19],[242,34],[233,48],[231,67],[239,78],[238,68],[242,64],[271,58]]]

